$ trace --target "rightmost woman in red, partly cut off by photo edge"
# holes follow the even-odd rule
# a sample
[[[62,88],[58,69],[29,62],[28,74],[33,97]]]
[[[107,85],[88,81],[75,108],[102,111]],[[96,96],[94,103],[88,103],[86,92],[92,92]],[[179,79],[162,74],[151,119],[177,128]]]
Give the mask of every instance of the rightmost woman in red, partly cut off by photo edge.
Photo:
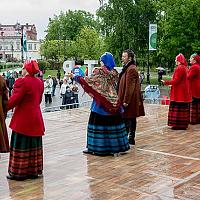
[[[200,124],[200,56],[196,53],[190,56],[191,67],[188,73],[189,86],[192,95],[190,106],[190,123]]]

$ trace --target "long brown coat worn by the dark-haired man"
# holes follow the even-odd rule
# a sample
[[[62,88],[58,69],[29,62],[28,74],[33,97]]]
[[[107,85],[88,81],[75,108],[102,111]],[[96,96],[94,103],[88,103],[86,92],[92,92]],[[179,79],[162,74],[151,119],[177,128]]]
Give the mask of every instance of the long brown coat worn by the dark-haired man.
[[[124,107],[123,117],[135,118],[144,116],[139,74],[135,65],[129,65],[122,73],[118,85],[118,96],[121,104],[128,104],[127,107]]]

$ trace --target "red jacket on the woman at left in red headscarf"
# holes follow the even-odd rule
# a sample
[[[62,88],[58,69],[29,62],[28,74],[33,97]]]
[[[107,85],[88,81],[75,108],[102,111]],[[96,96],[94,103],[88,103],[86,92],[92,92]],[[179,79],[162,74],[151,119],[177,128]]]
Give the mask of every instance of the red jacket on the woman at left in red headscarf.
[[[43,82],[36,77],[25,76],[15,81],[13,94],[8,101],[8,110],[14,109],[10,128],[27,136],[44,135],[44,122],[40,109]]]

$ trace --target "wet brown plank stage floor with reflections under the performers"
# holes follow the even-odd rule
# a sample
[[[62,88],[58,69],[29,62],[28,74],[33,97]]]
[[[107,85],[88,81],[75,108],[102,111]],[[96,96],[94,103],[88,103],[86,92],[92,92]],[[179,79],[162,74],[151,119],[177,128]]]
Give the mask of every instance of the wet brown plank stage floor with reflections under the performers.
[[[199,200],[200,125],[171,130],[168,106],[145,110],[136,145],[118,157],[82,153],[88,107],[44,113],[43,177],[7,180],[9,155],[1,154],[0,200]]]

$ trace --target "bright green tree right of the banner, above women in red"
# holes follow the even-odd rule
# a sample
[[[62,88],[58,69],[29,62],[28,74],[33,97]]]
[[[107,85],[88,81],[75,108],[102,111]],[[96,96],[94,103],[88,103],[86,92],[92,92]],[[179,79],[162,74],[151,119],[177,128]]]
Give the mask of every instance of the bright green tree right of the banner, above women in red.
[[[199,0],[159,1],[159,54],[167,60],[169,67],[174,58],[183,53],[187,58],[200,50]]]

